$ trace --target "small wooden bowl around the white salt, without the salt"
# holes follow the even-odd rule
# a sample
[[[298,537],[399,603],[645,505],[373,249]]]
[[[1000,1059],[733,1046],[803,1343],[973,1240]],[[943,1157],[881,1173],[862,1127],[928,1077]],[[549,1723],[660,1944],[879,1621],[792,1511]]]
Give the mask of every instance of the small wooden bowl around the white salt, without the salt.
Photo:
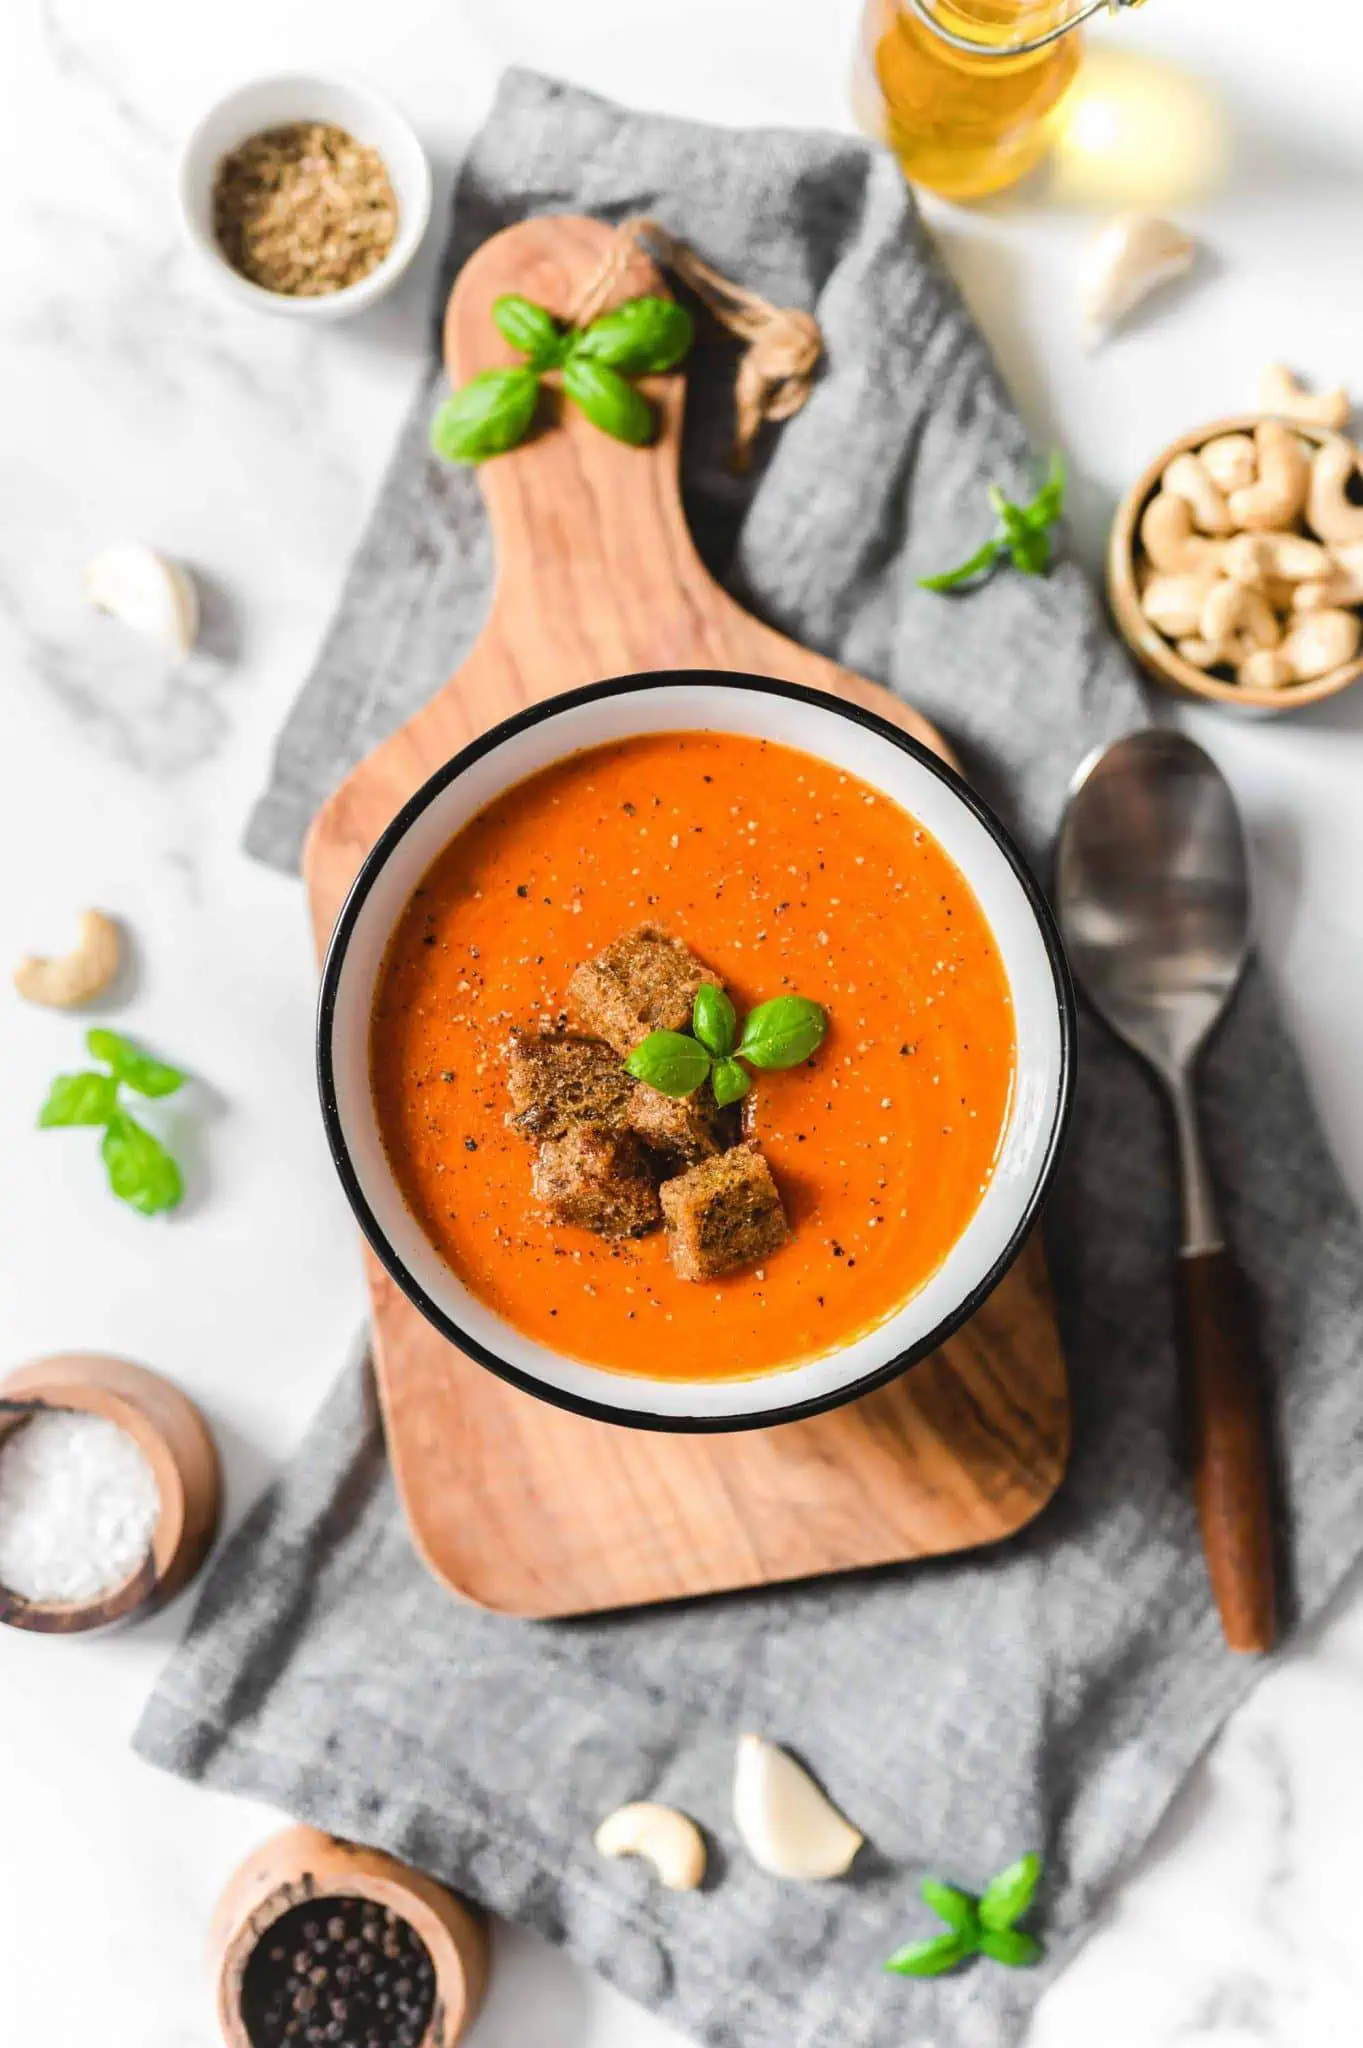
[[[0,1380],[0,1440],[45,1409],[78,1409],[127,1430],[151,1466],[162,1501],[141,1567],[96,1599],[35,1602],[0,1585],[0,1622],[63,1636],[106,1628],[178,1593],[213,1546],[223,1481],[217,1446],[194,1403],[145,1366],[98,1352],[20,1366]]]

